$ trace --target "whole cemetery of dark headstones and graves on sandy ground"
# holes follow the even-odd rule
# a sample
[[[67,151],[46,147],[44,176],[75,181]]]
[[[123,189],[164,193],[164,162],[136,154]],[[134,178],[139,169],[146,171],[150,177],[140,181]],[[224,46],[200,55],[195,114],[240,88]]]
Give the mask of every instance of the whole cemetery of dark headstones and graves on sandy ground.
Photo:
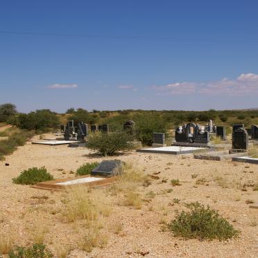
[[[132,143],[139,141],[137,122],[127,120],[119,128],[114,132],[109,123],[67,121],[60,130],[44,133],[41,138],[35,135],[15,153],[6,155],[0,163],[0,196],[8,206],[0,206],[0,223],[8,237],[16,227],[22,230],[10,245],[17,239],[26,244],[22,236],[35,239],[37,235],[44,240],[36,242],[44,243],[51,252],[59,252],[52,241],[56,238],[62,243],[62,252],[76,257],[89,253],[105,256],[107,252],[122,257],[128,253],[166,257],[164,250],[170,250],[171,245],[174,248],[187,243],[190,246],[184,248],[192,255],[198,254],[196,248],[205,246],[203,255],[209,257],[222,242],[205,241],[210,237],[206,235],[198,236],[202,241],[184,240],[175,224],[180,216],[175,215],[176,210],[184,210],[187,203],[194,212],[212,214],[218,210],[221,219],[227,218],[224,223],[229,223],[229,231],[223,237],[229,238],[228,255],[231,250],[236,250],[237,256],[247,252],[255,255],[258,157],[250,150],[256,148],[257,126],[248,131],[243,124],[235,123],[232,132],[227,132],[225,126],[212,121],[205,126],[189,122],[172,133],[153,130],[151,146],[142,144],[136,149]],[[120,145],[113,146],[117,142]],[[44,151],[40,144],[45,145]],[[84,166],[87,170],[79,172]],[[18,183],[22,171],[33,168],[37,176],[40,167],[51,179]],[[195,221],[191,212],[187,216]],[[39,218],[41,222],[36,225]],[[47,230],[39,227],[41,223]],[[82,235],[98,241],[80,239]],[[141,246],[132,245],[129,236],[137,236],[135,241],[143,239]],[[239,246],[239,242],[244,244]],[[173,253],[179,250],[175,248]]]

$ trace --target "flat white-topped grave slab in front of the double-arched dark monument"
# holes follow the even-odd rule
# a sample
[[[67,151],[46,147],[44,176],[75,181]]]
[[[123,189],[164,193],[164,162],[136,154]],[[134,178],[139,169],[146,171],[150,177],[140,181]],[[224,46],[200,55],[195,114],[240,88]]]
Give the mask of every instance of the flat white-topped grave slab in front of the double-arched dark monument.
[[[188,147],[188,146],[166,146],[160,148],[141,148],[136,150],[139,153],[162,153],[162,154],[188,154],[196,153],[202,151],[209,151],[209,148],[200,148],[200,147]]]

